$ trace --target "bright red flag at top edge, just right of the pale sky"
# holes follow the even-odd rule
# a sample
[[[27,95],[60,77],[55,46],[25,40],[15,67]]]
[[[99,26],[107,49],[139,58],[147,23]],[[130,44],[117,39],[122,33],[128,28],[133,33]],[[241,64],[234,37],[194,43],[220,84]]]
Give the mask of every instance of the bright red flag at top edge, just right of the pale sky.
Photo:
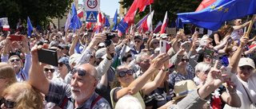
[[[124,21],[128,21],[128,23],[134,21],[136,10],[138,10],[138,4],[139,0],[134,0],[133,4],[130,6],[130,9],[126,14],[126,17],[124,18]]]

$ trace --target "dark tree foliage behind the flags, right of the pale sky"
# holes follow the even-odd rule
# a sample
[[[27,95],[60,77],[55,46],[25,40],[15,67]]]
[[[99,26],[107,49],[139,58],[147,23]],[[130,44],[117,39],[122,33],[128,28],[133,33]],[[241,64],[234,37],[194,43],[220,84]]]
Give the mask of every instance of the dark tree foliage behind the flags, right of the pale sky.
[[[119,3],[123,5],[123,8],[128,8],[133,2],[133,0],[123,0]],[[193,12],[198,8],[201,2],[202,0],[154,0],[154,3],[151,4],[151,9],[154,10],[153,24],[157,25],[158,21],[162,21],[165,17],[166,11],[168,11],[168,24],[170,24],[170,21],[176,20],[176,14],[178,14],[178,11],[180,13]],[[136,14],[136,18],[142,18],[149,13],[150,6],[146,6],[144,12]]]

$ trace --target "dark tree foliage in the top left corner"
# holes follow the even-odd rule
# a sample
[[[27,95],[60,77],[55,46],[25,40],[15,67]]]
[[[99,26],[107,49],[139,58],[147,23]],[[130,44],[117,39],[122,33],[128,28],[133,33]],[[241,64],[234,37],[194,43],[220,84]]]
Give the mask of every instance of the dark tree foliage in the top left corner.
[[[8,18],[11,28],[16,28],[18,19],[33,25],[42,25],[48,18],[62,18],[70,10],[73,0],[1,0],[0,18]]]

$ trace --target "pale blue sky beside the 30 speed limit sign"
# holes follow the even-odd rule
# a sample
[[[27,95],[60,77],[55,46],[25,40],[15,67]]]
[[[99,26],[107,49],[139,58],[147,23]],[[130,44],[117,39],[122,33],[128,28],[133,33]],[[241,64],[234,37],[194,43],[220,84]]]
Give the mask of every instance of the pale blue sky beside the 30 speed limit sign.
[[[83,4],[84,0],[79,0],[78,4]],[[114,18],[115,11],[118,9],[119,13],[119,7],[120,4],[118,3],[120,0],[101,0],[101,10],[103,13],[110,15],[110,18]]]

